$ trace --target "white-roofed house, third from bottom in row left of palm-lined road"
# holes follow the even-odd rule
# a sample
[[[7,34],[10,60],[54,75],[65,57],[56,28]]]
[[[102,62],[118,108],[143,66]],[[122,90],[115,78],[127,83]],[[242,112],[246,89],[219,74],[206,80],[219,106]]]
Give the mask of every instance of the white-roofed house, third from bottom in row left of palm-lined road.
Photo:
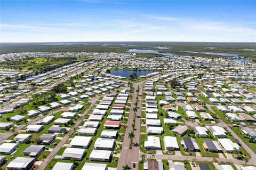
[[[115,139],[98,138],[94,143],[94,148],[99,150],[113,150]]]

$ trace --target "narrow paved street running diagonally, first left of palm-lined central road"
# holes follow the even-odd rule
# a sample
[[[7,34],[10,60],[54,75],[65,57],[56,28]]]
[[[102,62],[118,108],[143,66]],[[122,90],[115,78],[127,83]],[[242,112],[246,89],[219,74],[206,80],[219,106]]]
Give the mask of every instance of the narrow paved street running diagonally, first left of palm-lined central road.
[[[80,116],[79,119],[76,121],[75,125],[73,126],[74,128],[76,128],[82,122],[82,120],[84,119],[85,115],[87,115],[89,113],[89,111],[93,108],[94,104],[99,100],[99,98],[100,98],[100,96],[97,96],[97,97],[89,100],[91,105],[89,106],[89,108],[87,108],[84,111],[83,115]],[[38,170],[44,170],[46,168],[46,166],[50,163],[50,161],[55,157],[55,155],[58,153],[58,151],[63,147],[63,145],[69,139],[69,135],[74,132],[74,128],[71,128],[68,131],[68,133],[61,139],[61,141],[58,143],[58,145],[51,151],[49,156],[47,156],[47,158],[44,159],[42,164],[38,167]]]

